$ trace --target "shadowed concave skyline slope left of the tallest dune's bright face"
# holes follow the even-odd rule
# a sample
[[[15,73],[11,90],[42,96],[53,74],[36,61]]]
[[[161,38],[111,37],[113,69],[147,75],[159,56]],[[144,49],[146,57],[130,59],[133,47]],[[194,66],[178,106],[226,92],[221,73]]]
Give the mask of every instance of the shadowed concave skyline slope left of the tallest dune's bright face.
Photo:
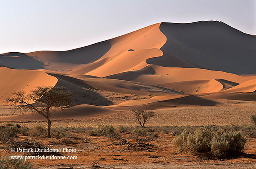
[[[37,51],[27,55],[43,62],[47,70],[67,72],[98,60],[110,48],[111,44],[103,41],[69,51]]]

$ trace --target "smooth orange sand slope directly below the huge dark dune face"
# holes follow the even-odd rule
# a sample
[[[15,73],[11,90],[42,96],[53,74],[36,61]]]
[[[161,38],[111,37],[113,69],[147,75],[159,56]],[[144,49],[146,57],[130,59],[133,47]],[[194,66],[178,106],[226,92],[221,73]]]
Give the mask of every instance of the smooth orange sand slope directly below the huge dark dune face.
[[[166,68],[149,65],[141,70],[118,73],[106,78],[130,80],[153,85],[211,79],[225,79],[240,84],[247,80],[256,79],[256,76],[239,76],[232,73],[198,68]]]

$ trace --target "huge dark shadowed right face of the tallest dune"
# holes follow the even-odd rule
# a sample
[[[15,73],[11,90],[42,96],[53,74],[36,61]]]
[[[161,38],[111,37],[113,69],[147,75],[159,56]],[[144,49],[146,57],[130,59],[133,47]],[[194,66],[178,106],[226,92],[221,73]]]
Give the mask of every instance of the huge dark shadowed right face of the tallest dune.
[[[256,37],[218,21],[161,23],[167,42],[163,56],[147,59],[164,67],[207,68],[236,74],[255,74]],[[173,58],[185,63],[174,63]],[[246,65],[246,66],[244,66]]]

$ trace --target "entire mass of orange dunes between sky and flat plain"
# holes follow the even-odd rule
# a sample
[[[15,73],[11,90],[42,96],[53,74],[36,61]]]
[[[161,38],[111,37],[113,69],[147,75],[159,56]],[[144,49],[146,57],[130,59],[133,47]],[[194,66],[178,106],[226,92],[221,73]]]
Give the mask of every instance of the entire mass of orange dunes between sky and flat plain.
[[[69,51],[0,54],[0,105],[13,91],[45,85],[74,91],[63,118],[256,101],[255,62],[256,37],[225,23],[157,23]]]

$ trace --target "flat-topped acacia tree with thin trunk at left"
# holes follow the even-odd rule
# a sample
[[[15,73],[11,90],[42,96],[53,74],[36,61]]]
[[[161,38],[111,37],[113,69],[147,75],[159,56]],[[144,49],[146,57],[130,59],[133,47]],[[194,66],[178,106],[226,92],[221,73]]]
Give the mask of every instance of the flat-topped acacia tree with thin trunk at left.
[[[72,105],[73,92],[66,87],[59,86],[38,86],[26,95],[20,90],[12,93],[12,97],[6,99],[7,102],[15,106],[15,110],[20,114],[32,111],[43,115],[48,121],[48,138],[51,138],[50,111],[53,108],[64,110]]]

